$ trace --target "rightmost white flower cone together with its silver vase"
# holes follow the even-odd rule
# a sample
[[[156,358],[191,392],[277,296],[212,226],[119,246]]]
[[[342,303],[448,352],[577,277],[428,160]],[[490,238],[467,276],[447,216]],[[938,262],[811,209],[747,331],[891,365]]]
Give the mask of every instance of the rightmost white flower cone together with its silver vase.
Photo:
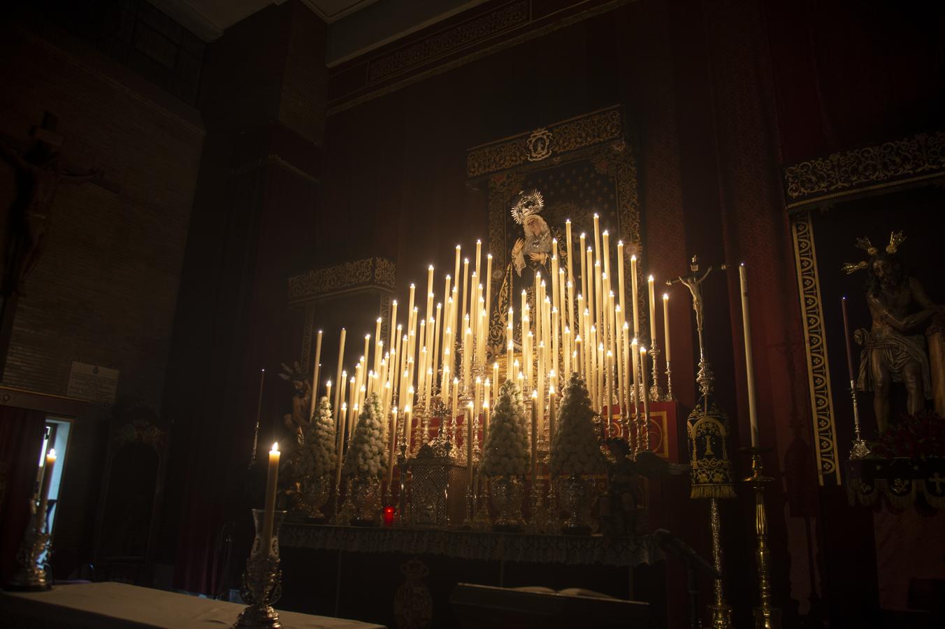
[[[561,478],[558,495],[561,506],[568,512],[563,529],[565,534],[591,533],[593,483],[584,476],[599,474],[605,469],[604,455],[593,425],[594,415],[587,386],[577,374],[572,374],[561,399],[558,429],[549,461],[552,476]]]

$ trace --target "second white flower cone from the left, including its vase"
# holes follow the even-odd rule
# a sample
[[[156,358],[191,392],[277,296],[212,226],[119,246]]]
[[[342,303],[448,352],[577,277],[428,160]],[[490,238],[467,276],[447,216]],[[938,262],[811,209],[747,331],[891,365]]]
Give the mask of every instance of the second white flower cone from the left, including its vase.
[[[380,476],[387,467],[387,450],[377,394],[372,393],[364,406],[342,472],[350,482],[348,501],[355,511],[352,524],[372,526],[381,513]]]

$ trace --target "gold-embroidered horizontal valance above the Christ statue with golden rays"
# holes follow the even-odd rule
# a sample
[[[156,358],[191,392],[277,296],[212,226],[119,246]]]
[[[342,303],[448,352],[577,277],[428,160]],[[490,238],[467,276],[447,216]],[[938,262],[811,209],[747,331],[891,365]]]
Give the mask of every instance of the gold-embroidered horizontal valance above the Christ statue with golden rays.
[[[945,131],[831,153],[784,167],[787,208],[945,177]]]

